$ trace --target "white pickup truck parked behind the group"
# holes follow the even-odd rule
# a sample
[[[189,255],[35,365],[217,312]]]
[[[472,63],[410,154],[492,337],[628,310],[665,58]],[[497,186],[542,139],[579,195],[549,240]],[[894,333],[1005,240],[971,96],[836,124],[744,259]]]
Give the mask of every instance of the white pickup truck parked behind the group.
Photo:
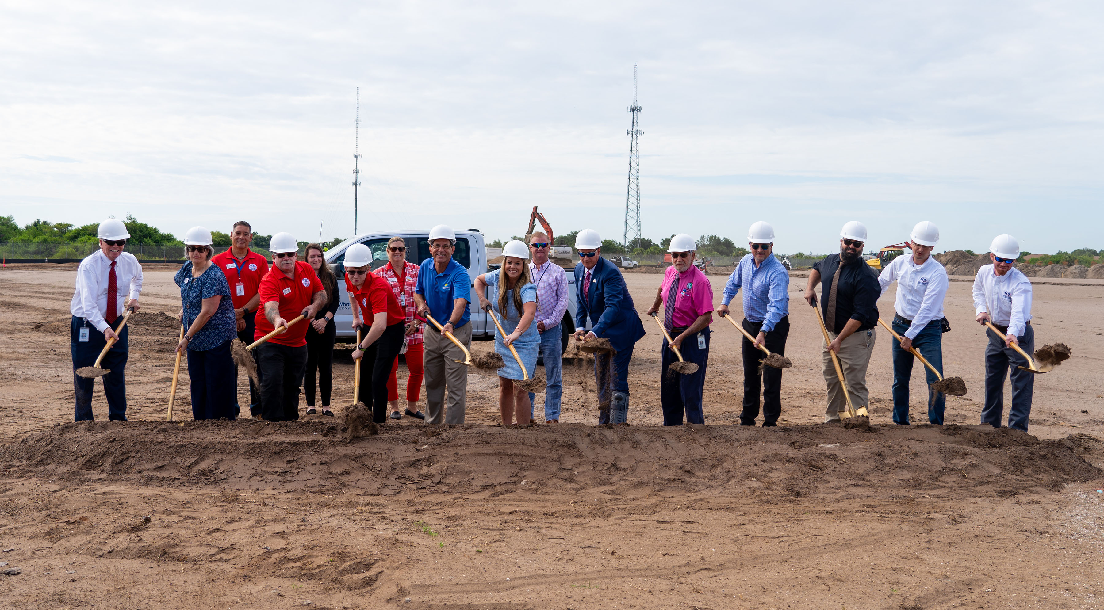
[[[376,270],[388,264],[388,240],[394,236],[402,237],[406,242],[406,260],[422,265],[423,261],[433,264],[429,256],[429,231],[389,231],[364,233],[341,242],[326,253],[326,261],[338,276],[338,286],[341,289],[341,304],[333,317],[337,324],[338,336],[352,338],[357,333],[352,330],[352,309],[349,304],[349,293],[344,287],[344,253],[353,244],[364,244],[372,253],[372,270]],[[478,229],[456,232],[456,250],[453,258],[464,265],[471,278],[471,338],[476,340],[490,340],[495,338],[495,322],[487,313],[479,311],[479,298],[476,296],[476,278],[487,272],[487,248],[484,244],[484,235]],[[495,287],[487,287],[487,298],[495,300]],[[590,325],[590,324],[587,324]],[[560,322],[561,335],[563,336],[563,349],[567,349],[567,340],[575,332],[575,278],[567,272],[567,311]]]

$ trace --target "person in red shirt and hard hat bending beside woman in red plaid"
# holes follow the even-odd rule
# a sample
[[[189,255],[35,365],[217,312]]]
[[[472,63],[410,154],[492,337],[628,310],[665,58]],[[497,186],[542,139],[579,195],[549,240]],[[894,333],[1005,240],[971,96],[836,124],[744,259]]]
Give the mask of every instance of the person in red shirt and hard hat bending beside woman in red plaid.
[[[352,353],[353,360],[363,357],[361,366],[371,371],[370,375],[361,375],[357,399],[372,407],[372,421],[384,424],[388,420],[388,379],[403,347],[406,312],[388,280],[369,270],[371,263],[372,253],[363,244],[353,244],[346,250],[346,289],[352,306],[352,325],[354,329],[369,328],[368,336]]]

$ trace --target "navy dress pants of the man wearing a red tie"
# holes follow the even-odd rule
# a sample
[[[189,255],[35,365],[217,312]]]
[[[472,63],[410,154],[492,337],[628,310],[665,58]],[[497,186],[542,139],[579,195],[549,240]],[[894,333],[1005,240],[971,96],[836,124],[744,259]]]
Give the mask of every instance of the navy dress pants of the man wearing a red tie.
[[[118,322],[118,321],[116,321]],[[88,329],[88,340],[81,341],[81,329]],[[113,325],[114,328],[114,325]],[[130,328],[124,327],[119,333],[119,340],[107,351],[99,366],[107,368],[110,373],[100,377],[104,381],[104,395],[107,397],[107,418],[117,421],[127,419],[127,356],[130,342]],[[76,374],[76,370],[83,366],[92,366],[99,357],[99,352],[107,345],[104,333],[96,330],[96,327],[84,321],[82,318],[73,317],[70,322],[70,353],[73,356],[73,389],[76,394],[76,407],[73,410],[73,421],[84,421],[94,419],[92,415],[92,390],[95,379],[82,377]]]

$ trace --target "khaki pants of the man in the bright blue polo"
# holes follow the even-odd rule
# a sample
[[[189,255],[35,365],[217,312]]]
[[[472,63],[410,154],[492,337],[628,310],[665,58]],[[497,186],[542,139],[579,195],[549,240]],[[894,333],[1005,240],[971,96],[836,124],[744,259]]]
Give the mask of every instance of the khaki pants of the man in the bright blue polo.
[[[471,322],[456,329],[453,333],[465,347],[471,346]],[[423,370],[425,373],[425,422],[426,424],[464,424],[465,397],[468,392],[468,367],[464,362],[464,352],[442,336],[440,331],[433,327],[425,329],[425,352]],[[448,409],[444,411],[445,387],[448,387]]]

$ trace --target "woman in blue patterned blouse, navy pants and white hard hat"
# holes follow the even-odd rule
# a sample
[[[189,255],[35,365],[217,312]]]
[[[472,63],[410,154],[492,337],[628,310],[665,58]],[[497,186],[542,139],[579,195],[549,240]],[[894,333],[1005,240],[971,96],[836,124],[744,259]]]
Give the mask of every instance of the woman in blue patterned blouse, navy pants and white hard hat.
[[[211,232],[193,226],[184,234],[188,263],[177,271],[181,322],[188,328],[177,351],[188,350],[192,379],[192,416],[195,419],[234,419],[234,360],[230,344],[237,338],[230,285],[211,265]]]

